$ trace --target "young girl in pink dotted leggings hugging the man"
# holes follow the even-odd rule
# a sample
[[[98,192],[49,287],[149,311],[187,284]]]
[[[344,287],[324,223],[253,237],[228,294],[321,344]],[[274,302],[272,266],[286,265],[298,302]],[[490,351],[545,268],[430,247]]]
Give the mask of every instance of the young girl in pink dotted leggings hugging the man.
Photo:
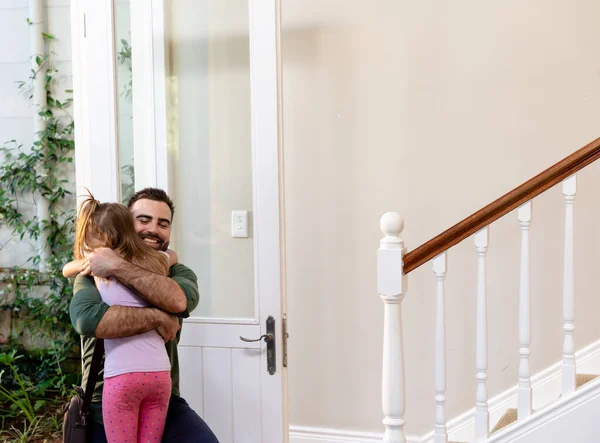
[[[97,248],[113,249],[125,260],[167,275],[176,261],[148,246],[137,234],[129,210],[118,203],[100,203],[90,194],[79,210],[75,261],[65,265],[66,277],[87,267],[86,255]],[[147,307],[148,302],[116,279],[94,277],[108,305]],[[105,339],[102,418],[110,443],[157,443],[162,439],[171,397],[171,364],[156,330],[124,338]]]

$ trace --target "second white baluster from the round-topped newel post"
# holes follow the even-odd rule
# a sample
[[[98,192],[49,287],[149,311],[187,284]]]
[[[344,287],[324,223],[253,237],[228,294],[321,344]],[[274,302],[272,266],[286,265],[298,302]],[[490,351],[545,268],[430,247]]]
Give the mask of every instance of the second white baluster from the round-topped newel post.
[[[477,394],[475,402],[475,442],[485,441],[490,428],[487,403],[487,294],[485,255],[488,247],[488,228],[475,234],[477,249]]]

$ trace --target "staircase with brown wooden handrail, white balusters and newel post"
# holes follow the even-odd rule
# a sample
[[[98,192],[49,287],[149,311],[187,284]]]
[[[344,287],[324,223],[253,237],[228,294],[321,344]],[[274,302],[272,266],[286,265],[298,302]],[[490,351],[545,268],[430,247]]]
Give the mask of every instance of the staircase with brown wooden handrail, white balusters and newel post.
[[[384,340],[382,404],[385,443],[405,443],[404,356],[402,350],[402,301],[406,295],[409,273],[430,262],[436,279],[435,331],[435,423],[431,438],[421,441],[464,442],[592,442],[600,441],[600,378],[593,374],[576,373],[574,346],[574,201],[577,193],[576,173],[600,158],[600,139],[576,151],[561,162],[490,203],[480,211],[434,237],[413,251],[407,252],[401,233],[404,220],[397,213],[381,218],[385,237],[377,255],[377,286],[384,303]],[[533,410],[532,378],[529,370],[531,314],[529,229],[532,220],[532,200],[562,184],[565,208],[564,270],[563,270],[563,358],[560,363],[560,396],[539,410]],[[487,294],[486,255],[488,228],[500,217],[517,210],[521,228],[520,290],[519,290],[519,374],[516,388],[516,408],[508,408],[490,426],[490,406],[487,396]],[[450,432],[446,419],[446,335],[445,277],[446,251],[468,237],[474,237],[477,254],[477,317],[476,368],[477,392],[468,432]],[[600,349],[600,342],[598,342]],[[599,353],[600,355],[600,353]],[[598,371],[600,374],[600,370]],[[575,415],[574,415],[575,414]],[[571,417],[570,426],[563,421]],[[573,417],[576,417],[573,419]],[[570,433],[564,430],[577,424]],[[594,430],[598,428],[598,430]],[[574,437],[576,436],[576,437]]]

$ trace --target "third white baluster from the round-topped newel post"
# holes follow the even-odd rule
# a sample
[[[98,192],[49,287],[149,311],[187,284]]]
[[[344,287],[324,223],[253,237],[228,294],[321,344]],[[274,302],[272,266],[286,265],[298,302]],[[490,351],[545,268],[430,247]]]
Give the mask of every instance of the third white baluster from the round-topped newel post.
[[[531,377],[529,374],[529,345],[531,343],[531,285],[529,280],[529,227],[531,226],[531,202],[518,211],[521,225],[521,282],[519,285],[519,390],[518,417],[531,415]]]

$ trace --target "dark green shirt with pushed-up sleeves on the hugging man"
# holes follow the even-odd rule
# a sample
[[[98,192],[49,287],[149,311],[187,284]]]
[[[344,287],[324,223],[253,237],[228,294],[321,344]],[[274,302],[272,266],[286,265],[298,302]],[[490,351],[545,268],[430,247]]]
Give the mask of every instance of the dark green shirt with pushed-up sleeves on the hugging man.
[[[182,265],[176,264],[171,267],[169,277],[177,282],[185,293],[187,298],[187,309],[179,315],[179,324],[183,318],[190,316],[198,305],[198,279],[194,272]],[[71,323],[79,335],[81,335],[81,356],[82,356],[82,382],[81,386],[85,388],[92,364],[92,355],[94,354],[94,345],[96,344],[96,328],[102,320],[102,316],[110,307],[102,301],[98,289],[94,284],[94,279],[89,276],[78,275],[75,278],[73,286],[73,299],[71,300],[70,315]],[[171,380],[173,385],[173,394],[179,395],[179,359],[177,356],[177,343],[181,329],[177,332],[175,340],[167,342],[167,354],[171,360]],[[99,381],[96,383],[92,405],[90,410],[96,420],[102,423],[102,388],[104,385],[104,368],[100,371]]]

